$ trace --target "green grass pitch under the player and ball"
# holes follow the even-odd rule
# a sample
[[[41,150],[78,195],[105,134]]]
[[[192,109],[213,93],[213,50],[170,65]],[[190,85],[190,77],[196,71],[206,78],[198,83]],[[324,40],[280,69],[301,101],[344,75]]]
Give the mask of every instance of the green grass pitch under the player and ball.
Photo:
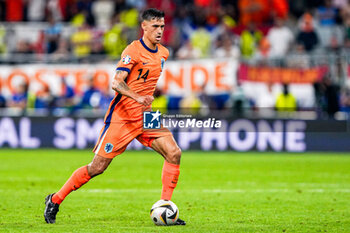
[[[350,232],[350,154],[184,152],[173,201],[187,226],[149,217],[163,159],[125,152],[43,218],[87,150],[0,150],[0,232]]]

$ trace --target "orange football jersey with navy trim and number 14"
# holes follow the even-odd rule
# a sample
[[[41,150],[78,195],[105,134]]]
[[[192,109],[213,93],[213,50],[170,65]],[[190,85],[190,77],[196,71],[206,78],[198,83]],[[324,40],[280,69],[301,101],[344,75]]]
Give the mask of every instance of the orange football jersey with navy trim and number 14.
[[[168,49],[161,44],[153,50],[142,39],[135,40],[124,49],[117,70],[129,73],[125,82],[131,90],[152,96],[168,56]],[[106,113],[105,123],[140,121],[143,111],[150,107],[116,92]]]

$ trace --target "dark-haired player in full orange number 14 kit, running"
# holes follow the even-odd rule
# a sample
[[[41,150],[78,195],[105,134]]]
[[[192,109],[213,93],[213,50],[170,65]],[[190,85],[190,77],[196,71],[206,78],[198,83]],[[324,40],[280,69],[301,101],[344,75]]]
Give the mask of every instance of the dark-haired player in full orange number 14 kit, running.
[[[57,193],[46,197],[44,217],[47,223],[55,223],[59,206],[69,193],[102,174],[134,138],[164,157],[161,199],[171,199],[180,174],[181,150],[170,131],[165,128],[146,130],[142,122],[143,112],[151,110],[152,95],[169,56],[169,51],[160,44],[164,25],[163,11],[148,9],[143,12],[143,37],[126,47],[117,65],[112,83],[116,95],[93,149],[95,156],[90,164],[74,171]],[[178,219],[176,224],[186,223]]]

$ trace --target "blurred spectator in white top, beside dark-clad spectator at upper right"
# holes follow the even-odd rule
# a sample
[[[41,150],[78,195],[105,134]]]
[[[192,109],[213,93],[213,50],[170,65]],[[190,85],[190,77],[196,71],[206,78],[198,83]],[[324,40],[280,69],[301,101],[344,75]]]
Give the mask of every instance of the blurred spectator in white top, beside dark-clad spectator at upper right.
[[[284,25],[282,18],[275,18],[274,26],[269,30],[267,39],[270,42],[270,58],[282,59],[294,40],[292,31]]]

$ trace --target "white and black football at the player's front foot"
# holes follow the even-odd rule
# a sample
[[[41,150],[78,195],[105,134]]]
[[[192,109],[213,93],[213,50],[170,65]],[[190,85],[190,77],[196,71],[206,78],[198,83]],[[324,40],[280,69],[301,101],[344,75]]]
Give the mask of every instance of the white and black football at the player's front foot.
[[[179,218],[179,209],[172,201],[159,200],[152,206],[150,216],[156,225],[174,225]]]

